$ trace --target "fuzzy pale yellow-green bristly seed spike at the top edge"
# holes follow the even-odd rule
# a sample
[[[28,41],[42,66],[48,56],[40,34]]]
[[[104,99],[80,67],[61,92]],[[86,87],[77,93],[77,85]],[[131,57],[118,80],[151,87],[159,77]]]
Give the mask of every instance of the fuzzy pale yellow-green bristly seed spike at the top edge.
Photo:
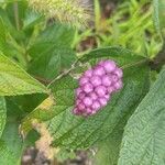
[[[89,20],[88,4],[79,0],[28,0],[34,11],[50,19],[85,26]]]

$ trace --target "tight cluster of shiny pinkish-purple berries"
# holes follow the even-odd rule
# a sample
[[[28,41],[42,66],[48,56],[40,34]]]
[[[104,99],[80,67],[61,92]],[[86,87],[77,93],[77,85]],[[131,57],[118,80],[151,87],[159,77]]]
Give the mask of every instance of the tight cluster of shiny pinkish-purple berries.
[[[79,88],[76,89],[74,114],[92,116],[106,107],[111,95],[122,88],[122,69],[109,59],[86,70],[79,79]]]

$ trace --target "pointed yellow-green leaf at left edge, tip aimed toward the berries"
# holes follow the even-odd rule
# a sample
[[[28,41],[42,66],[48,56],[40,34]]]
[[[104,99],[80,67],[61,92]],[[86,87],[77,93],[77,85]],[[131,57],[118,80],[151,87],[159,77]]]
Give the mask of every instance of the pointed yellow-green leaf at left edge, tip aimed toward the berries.
[[[28,75],[20,66],[0,55],[0,96],[47,92],[46,87]]]

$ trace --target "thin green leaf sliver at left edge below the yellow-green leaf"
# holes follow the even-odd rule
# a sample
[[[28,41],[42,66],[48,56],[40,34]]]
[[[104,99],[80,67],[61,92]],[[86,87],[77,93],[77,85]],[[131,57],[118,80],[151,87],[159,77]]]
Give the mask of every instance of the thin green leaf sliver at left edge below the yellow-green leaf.
[[[0,138],[4,130],[6,120],[7,120],[6,100],[3,97],[0,97]]]

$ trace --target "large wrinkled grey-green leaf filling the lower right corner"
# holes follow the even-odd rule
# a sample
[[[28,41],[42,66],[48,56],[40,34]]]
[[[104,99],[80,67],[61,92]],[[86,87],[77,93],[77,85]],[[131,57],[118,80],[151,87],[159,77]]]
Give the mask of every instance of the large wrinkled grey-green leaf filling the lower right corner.
[[[125,127],[119,165],[165,164],[164,81],[165,68]]]

